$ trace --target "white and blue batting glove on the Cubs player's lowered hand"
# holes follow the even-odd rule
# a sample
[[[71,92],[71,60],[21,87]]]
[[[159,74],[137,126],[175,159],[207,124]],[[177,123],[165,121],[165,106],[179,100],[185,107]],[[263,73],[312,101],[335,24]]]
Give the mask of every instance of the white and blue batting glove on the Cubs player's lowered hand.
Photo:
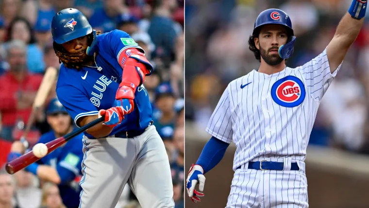
[[[203,175],[204,170],[200,165],[194,165],[192,164],[188,176],[186,179],[186,189],[187,194],[191,198],[191,200],[196,203],[200,202],[201,199],[199,197],[204,196],[203,193],[196,191],[195,186],[199,183],[199,190],[204,191],[204,185],[205,185],[205,176]]]

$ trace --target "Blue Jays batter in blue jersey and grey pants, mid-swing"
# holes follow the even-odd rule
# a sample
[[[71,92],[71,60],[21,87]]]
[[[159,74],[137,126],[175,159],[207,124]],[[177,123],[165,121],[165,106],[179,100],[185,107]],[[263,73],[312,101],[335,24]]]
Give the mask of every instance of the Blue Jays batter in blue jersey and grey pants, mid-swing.
[[[168,155],[143,86],[152,72],[143,49],[120,30],[100,35],[73,8],[52,18],[51,34],[63,63],[60,102],[78,126],[104,117],[84,133],[79,207],[114,208],[127,182],[142,208],[174,207]]]

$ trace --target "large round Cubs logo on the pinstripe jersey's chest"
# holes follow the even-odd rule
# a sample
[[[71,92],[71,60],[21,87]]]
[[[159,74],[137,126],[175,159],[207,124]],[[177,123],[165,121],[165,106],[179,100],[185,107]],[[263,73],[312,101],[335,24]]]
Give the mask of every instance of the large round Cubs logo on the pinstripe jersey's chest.
[[[271,97],[276,104],[296,107],[302,104],[306,91],[302,81],[295,76],[286,76],[273,84]]]

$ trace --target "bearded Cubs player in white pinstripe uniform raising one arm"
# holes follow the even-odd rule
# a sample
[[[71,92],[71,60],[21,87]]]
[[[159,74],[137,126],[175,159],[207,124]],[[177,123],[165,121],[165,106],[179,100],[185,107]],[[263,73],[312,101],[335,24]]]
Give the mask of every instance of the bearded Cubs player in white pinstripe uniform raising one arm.
[[[204,196],[204,174],[233,141],[234,178],[227,208],[307,208],[306,146],[319,102],[358,35],[367,0],[353,0],[325,50],[301,67],[285,66],[296,37],[291,19],[279,9],[256,18],[250,50],[259,69],[225,89],[206,131],[212,136],[186,180],[194,202]],[[199,191],[195,186],[199,184]]]

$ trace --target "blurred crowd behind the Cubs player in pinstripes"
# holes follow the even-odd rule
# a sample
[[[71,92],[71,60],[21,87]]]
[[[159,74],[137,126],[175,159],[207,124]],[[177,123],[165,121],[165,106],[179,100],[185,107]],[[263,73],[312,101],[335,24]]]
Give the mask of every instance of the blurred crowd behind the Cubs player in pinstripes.
[[[328,45],[352,0],[186,0],[185,119],[204,130],[228,83],[257,69],[248,38],[260,12],[284,10],[295,36],[291,68]],[[310,144],[369,154],[369,13],[321,100]]]

